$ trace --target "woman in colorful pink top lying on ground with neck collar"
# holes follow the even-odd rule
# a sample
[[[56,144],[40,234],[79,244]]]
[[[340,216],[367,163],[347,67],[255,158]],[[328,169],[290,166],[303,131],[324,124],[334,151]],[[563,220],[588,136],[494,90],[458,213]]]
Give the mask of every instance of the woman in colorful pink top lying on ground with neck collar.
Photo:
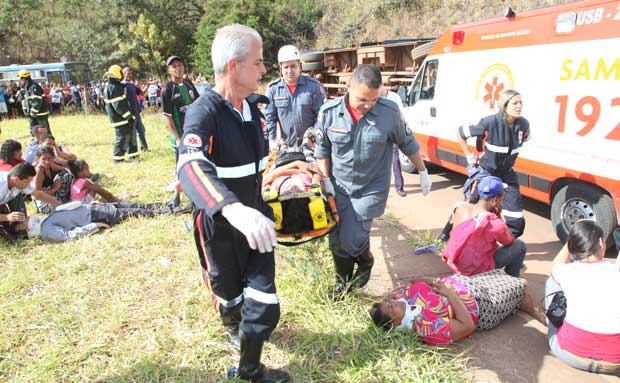
[[[403,328],[436,346],[467,338],[476,328],[489,330],[518,309],[545,323],[527,281],[492,270],[469,277],[417,278],[387,301],[373,304],[370,316],[377,326]]]

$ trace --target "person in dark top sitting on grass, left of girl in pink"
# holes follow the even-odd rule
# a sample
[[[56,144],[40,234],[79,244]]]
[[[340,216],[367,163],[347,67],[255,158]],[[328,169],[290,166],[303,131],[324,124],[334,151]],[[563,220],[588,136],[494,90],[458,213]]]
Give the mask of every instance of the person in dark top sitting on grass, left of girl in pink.
[[[49,146],[41,146],[36,156],[35,189],[50,194],[61,203],[71,200],[70,188],[73,175],[67,169],[54,162],[54,149]],[[45,201],[34,199],[37,210],[47,214],[52,206]]]

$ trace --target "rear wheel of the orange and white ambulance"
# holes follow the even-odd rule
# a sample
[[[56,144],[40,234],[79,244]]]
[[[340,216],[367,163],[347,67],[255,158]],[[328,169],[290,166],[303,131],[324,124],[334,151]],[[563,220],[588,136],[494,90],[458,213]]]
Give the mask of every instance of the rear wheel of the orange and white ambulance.
[[[611,197],[594,186],[572,183],[560,189],[551,203],[551,222],[560,241],[566,242],[570,228],[580,219],[595,221],[607,242],[612,240],[616,209]]]

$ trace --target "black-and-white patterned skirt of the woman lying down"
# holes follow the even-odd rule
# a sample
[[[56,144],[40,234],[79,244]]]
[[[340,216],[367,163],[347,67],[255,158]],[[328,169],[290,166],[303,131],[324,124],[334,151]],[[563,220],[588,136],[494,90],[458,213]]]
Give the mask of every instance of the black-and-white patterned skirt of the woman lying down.
[[[452,278],[464,284],[476,299],[480,330],[490,330],[514,314],[523,301],[527,284],[525,279],[512,277],[504,270]]]

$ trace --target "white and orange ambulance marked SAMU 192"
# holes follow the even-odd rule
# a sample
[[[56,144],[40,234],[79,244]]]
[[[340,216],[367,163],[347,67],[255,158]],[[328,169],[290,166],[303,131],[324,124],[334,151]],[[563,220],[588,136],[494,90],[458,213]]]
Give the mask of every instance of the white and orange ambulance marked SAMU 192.
[[[561,240],[583,218],[609,234],[620,212],[620,1],[507,8],[439,37],[406,103],[424,159],[466,174],[457,128],[497,113],[505,89],[521,93],[531,128],[515,165],[522,194],[551,206]]]

